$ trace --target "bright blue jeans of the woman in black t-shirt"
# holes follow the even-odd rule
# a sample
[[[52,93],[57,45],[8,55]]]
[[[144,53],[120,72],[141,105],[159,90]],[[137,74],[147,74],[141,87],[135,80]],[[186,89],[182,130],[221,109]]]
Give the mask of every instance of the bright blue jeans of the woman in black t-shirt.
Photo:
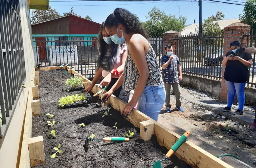
[[[238,109],[244,110],[244,104],[245,104],[245,83],[235,83],[226,81],[227,88],[228,88],[228,107],[231,107],[233,104],[233,101],[235,99],[235,94],[238,100]]]

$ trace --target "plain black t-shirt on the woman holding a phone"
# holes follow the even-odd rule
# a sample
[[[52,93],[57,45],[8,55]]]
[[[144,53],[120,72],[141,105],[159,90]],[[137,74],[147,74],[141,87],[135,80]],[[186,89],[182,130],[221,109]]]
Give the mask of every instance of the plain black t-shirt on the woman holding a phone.
[[[228,51],[226,53],[226,57],[231,54],[232,51]],[[252,59],[251,53],[242,52],[239,57],[243,58],[244,60],[248,61]],[[244,83],[248,82],[249,74],[248,74],[248,67],[245,66],[240,61],[235,60],[228,60],[225,68],[224,79],[230,82],[235,83]]]

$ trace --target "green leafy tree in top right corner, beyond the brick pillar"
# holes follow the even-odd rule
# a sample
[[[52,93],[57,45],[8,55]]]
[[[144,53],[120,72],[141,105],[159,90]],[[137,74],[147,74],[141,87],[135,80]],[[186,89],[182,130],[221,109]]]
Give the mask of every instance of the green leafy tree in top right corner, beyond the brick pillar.
[[[256,29],[256,0],[247,0],[245,2],[243,15],[239,14],[239,19],[251,26],[251,29]]]

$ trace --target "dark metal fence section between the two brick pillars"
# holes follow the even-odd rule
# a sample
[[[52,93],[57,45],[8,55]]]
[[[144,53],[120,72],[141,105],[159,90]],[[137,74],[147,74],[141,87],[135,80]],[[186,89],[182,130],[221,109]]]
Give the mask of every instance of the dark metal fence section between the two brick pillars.
[[[178,35],[175,54],[180,59],[185,74],[221,80],[223,35]]]

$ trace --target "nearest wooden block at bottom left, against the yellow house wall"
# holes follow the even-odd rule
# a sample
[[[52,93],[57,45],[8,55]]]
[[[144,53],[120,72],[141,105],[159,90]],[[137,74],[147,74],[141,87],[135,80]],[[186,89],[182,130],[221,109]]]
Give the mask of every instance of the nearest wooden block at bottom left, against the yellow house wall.
[[[28,150],[31,166],[35,166],[39,163],[45,165],[43,136],[28,139]]]

